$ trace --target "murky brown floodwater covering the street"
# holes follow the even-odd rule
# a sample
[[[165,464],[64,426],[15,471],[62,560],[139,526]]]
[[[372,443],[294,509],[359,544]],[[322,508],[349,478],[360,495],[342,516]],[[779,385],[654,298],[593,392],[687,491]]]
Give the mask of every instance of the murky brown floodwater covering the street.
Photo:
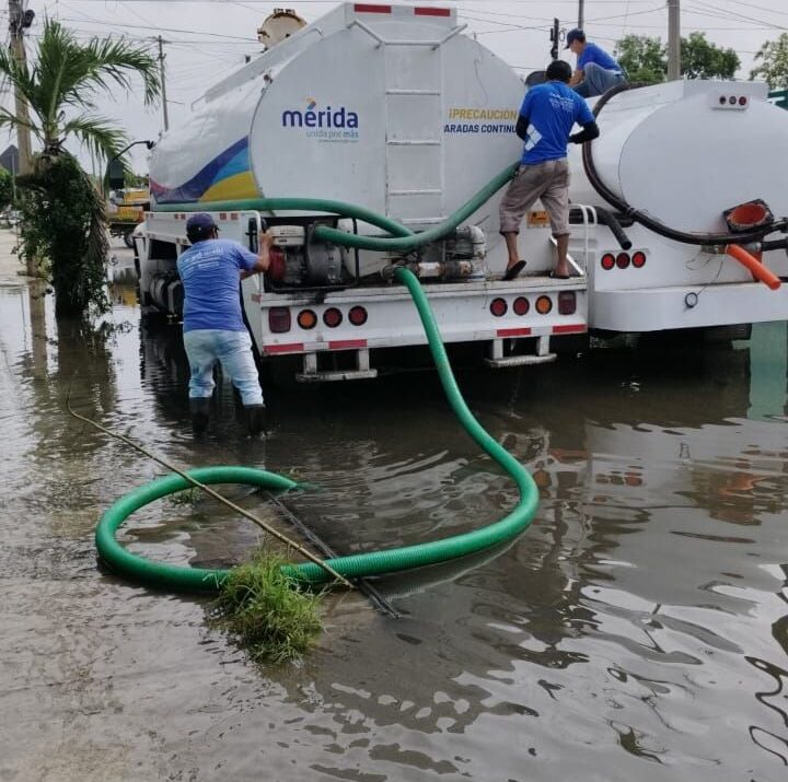
[[[788,771],[788,332],[695,350],[459,373],[487,430],[541,488],[494,555],[326,602],[302,665],[251,665],[204,599],[124,583],[93,529],[163,468],[244,464],[317,485],[288,509],[347,553],[485,525],[512,482],[431,373],[269,389],[268,439],[240,436],[222,387],[188,429],[173,336],[53,319],[0,288],[0,780],[755,780]],[[276,509],[228,488],[256,513]],[[256,529],[161,501],[125,542],[172,562],[242,560]],[[250,528],[252,527],[252,528]]]

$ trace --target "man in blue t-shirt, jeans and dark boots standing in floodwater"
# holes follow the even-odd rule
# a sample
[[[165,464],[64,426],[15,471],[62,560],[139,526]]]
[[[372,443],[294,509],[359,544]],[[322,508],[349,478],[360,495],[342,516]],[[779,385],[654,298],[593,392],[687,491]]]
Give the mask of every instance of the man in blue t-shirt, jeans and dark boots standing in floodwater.
[[[252,352],[252,338],[243,322],[239,281],[270,264],[273,237],[260,233],[259,255],[232,240],[219,238],[213,218],[205,212],[186,222],[192,246],[177,259],[184,287],[184,346],[189,361],[189,411],[195,434],[208,428],[213,394],[213,366],[221,363],[241,394],[250,435],[265,429],[266,408]]]

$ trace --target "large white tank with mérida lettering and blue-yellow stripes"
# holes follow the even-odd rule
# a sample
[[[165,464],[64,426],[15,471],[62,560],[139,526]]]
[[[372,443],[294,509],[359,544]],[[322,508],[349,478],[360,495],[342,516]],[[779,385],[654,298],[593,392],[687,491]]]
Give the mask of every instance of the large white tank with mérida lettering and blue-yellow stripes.
[[[209,90],[163,136],[150,162],[153,208],[314,197],[413,230],[441,222],[521,151],[525,86],[463,27],[453,9],[331,11]],[[494,235],[497,202],[471,221]]]

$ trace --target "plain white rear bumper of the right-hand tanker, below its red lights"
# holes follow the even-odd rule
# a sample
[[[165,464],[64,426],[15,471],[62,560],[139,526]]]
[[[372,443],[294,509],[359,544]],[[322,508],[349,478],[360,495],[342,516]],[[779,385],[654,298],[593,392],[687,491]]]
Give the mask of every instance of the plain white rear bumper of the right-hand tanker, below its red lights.
[[[661,331],[788,319],[788,284],[761,282],[596,291],[589,327],[607,331]]]

